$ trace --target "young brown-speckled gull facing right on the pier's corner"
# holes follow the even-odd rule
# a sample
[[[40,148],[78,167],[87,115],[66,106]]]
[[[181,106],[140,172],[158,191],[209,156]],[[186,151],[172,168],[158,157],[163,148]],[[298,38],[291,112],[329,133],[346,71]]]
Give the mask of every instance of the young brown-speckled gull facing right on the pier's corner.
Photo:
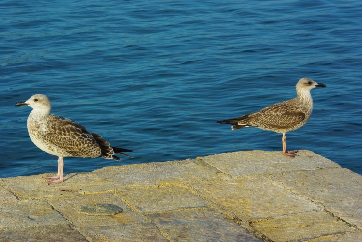
[[[302,78],[296,85],[297,97],[281,103],[276,103],[262,110],[239,118],[222,120],[218,123],[233,125],[232,130],[245,127],[257,127],[283,134],[283,155],[295,157],[298,151],[287,151],[286,132],[302,127],[309,120],[313,109],[311,90],[315,87],[325,88],[326,85],[316,83],[312,79]]]

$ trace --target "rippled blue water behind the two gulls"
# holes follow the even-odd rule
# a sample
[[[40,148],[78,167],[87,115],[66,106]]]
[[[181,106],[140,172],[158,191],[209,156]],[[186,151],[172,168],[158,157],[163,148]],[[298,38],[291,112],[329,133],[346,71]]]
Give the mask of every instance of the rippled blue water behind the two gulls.
[[[362,2],[0,1],[0,177],[57,171],[27,133],[42,93],[54,114],[132,149],[122,163],[65,158],[65,173],[209,154],[281,151],[280,134],[216,121],[295,97],[314,112],[287,134],[362,174]]]

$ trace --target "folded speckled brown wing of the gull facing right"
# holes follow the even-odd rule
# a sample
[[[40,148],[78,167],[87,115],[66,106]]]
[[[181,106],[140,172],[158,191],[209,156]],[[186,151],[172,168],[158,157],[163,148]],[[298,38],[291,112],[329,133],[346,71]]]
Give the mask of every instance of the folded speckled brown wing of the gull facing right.
[[[283,104],[262,109],[248,120],[248,125],[284,133],[299,127],[304,120],[305,113],[298,106]]]

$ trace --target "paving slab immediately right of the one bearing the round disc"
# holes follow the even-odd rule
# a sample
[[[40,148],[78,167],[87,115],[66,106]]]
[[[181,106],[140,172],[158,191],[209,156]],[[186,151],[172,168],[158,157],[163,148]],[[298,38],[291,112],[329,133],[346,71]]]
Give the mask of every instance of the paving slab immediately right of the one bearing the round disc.
[[[141,212],[206,207],[205,201],[183,187],[136,189],[118,193]]]

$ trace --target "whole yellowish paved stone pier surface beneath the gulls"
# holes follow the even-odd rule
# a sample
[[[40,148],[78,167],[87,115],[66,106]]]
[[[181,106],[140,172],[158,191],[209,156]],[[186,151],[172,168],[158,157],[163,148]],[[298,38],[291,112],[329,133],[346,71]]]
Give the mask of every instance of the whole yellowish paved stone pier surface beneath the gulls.
[[[298,154],[105,167],[51,186],[2,178],[0,241],[362,241],[362,176]]]

